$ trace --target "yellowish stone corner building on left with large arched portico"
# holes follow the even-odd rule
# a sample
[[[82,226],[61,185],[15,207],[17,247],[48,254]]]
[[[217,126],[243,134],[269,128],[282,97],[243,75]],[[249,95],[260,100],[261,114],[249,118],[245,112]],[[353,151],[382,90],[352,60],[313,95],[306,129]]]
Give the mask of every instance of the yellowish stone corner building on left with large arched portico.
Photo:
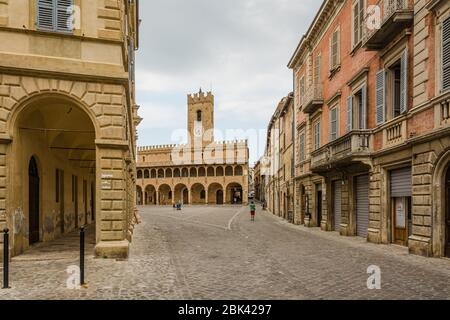
[[[0,2],[0,228],[12,255],[93,223],[97,256],[128,255],[138,24],[137,0]]]

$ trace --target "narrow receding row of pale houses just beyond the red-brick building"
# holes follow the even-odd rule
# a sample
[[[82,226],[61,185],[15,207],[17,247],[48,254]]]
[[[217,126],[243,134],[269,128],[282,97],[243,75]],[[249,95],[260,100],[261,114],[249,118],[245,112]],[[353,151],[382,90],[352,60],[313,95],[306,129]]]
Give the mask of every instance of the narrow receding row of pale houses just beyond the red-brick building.
[[[293,93],[283,98],[272,116],[267,131],[265,159],[259,162],[257,177],[260,186],[266,184],[263,198],[267,209],[290,221],[294,220],[295,112],[293,98]],[[265,181],[262,182],[264,179]]]

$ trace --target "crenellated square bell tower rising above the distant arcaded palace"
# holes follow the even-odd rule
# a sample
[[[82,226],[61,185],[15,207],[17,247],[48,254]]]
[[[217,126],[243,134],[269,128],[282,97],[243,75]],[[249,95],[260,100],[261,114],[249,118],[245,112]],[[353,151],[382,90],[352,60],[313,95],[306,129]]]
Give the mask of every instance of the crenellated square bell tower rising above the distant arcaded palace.
[[[205,147],[214,141],[214,96],[200,89],[188,95],[188,132],[195,146]]]

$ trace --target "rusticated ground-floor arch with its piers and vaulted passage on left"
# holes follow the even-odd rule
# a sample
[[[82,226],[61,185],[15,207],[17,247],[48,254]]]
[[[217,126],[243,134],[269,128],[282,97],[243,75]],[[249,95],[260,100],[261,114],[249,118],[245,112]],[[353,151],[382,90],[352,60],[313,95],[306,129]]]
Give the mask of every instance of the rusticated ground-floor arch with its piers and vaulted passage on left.
[[[97,87],[103,90],[102,84]],[[120,85],[115,88],[123,90]],[[99,217],[96,255],[128,256],[132,222],[126,217],[132,217],[136,177],[133,151],[125,140],[124,106],[108,106],[109,116],[116,118],[110,126],[100,126],[103,109],[95,94],[88,93],[87,83],[24,76],[16,89],[18,102],[7,111],[0,143],[0,157],[8,159],[0,163],[8,175],[0,181],[8,190],[7,195],[0,195],[7,207],[0,209],[7,212],[5,222],[11,230],[13,222],[23,222],[14,229],[12,255],[26,251],[30,243],[50,241],[81,225],[94,224]],[[113,122],[118,126],[113,127]],[[36,176],[31,170],[33,158]],[[37,178],[39,188],[32,181]],[[126,196],[123,186],[130,188]],[[119,202],[123,208],[120,217],[114,211]],[[35,210],[39,211],[38,227],[30,239],[33,206],[39,209]]]

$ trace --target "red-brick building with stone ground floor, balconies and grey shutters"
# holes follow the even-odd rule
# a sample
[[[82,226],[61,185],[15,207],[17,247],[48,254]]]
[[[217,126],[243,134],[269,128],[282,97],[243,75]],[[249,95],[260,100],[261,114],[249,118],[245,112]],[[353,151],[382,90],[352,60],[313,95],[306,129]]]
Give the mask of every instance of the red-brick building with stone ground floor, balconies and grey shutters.
[[[448,1],[323,1],[288,65],[295,223],[450,256],[449,61]]]

